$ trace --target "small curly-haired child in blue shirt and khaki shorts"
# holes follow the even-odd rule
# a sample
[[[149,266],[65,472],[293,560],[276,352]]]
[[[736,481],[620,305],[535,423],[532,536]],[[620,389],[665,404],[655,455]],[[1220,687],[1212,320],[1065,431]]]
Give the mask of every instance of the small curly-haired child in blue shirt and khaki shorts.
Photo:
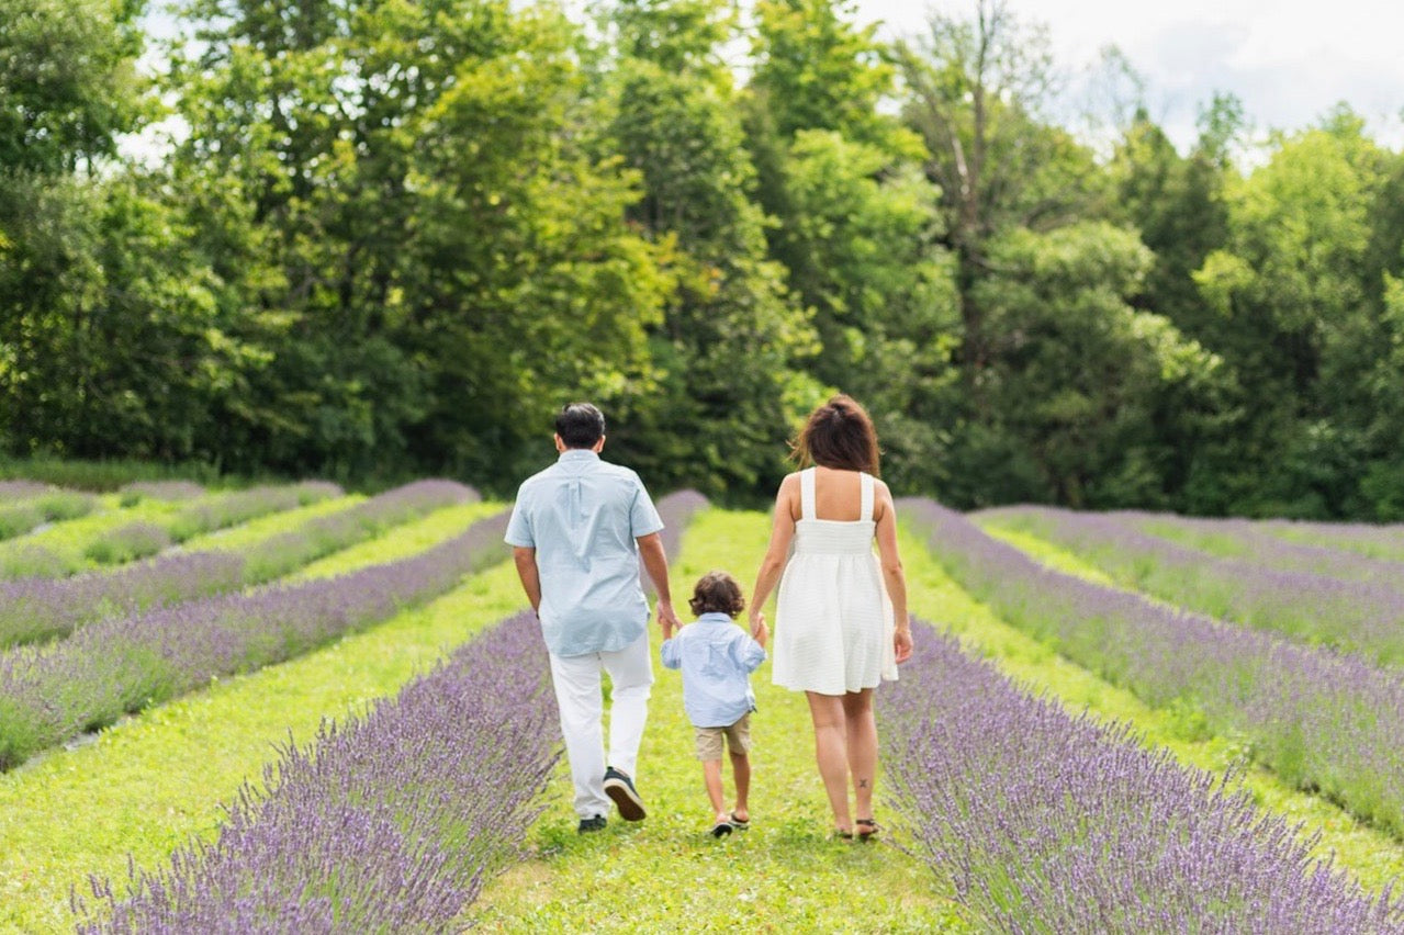
[[[682,670],[682,706],[696,729],[698,760],[706,778],[706,795],[715,813],[712,837],[722,838],[733,830],[750,827],[746,796],[751,786],[751,712],[755,695],[747,675],[765,661],[761,643],[734,623],[746,609],[741,585],[726,571],[702,576],[688,601],[698,619],[673,636],[673,625],[663,623],[663,664]],[[731,754],[736,781],[736,807],[726,810],[722,797],[722,737]]]

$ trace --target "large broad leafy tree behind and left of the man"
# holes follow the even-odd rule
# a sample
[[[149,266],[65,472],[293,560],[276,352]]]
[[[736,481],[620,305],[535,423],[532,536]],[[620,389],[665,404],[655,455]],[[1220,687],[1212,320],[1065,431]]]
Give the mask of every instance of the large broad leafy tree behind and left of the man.
[[[168,197],[264,350],[222,400],[220,448],[505,486],[563,399],[647,385],[664,286],[623,223],[630,177],[578,142],[578,32],[559,13],[195,0],[190,15]]]

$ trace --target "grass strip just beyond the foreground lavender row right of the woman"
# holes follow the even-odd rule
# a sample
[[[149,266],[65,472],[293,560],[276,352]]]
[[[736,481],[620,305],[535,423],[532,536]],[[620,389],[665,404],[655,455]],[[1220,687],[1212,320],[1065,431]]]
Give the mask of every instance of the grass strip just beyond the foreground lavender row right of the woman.
[[[1035,559],[1071,574],[1106,583],[1105,576],[1056,546],[1005,529],[987,528]],[[956,585],[913,532],[903,532],[903,559],[911,587],[911,609],[951,629],[970,651],[990,658],[1032,692],[1046,692],[1068,710],[1088,710],[1101,720],[1129,722],[1147,745],[1165,747],[1185,764],[1223,775],[1237,769],[1255,802],[1292,821],[1307,835],[1320,833],[1314,855],[1334,854],[1335,863],[1372,890],[1404,877],[1404,844],[1352,818],[1324,799],[1299,792],[1261,765],[1248,765],[1248,751],[1234,738],[1206,736],[1203,717],[1185,708],[1155,709],[1132,692],[1098,678],[1059,656],[1052,647],[1000,621],[986,605]]]

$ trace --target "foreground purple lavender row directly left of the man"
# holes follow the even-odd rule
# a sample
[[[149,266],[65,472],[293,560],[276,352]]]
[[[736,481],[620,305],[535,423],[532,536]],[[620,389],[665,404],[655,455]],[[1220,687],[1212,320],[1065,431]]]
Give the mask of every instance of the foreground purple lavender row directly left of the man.
[[[529,615],[469,642],[365,717],[324,722],[244,786],[219,838],[94,880],[81,932],[455,931],[517,859],[559,755]]]

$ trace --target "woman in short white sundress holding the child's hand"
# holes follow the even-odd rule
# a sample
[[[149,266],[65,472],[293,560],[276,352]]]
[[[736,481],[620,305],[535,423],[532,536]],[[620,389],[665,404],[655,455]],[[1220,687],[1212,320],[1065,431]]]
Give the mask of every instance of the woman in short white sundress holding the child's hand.
[[[896,679],[896,664],[911,656],[897,517],[887,484],[875,476],[878,432],[848,396],[810,414],[792,456],[802,470],[788,475],[775,497],[771,545],[751,591],[751,632],[757,639],[765,632],[761,608],[783,573],[774,681],[809,698],[834,834],[852,838],[856,825],[866,841],[879,830],[873,688]],[[848,809],[849,775],[856,820]]]

